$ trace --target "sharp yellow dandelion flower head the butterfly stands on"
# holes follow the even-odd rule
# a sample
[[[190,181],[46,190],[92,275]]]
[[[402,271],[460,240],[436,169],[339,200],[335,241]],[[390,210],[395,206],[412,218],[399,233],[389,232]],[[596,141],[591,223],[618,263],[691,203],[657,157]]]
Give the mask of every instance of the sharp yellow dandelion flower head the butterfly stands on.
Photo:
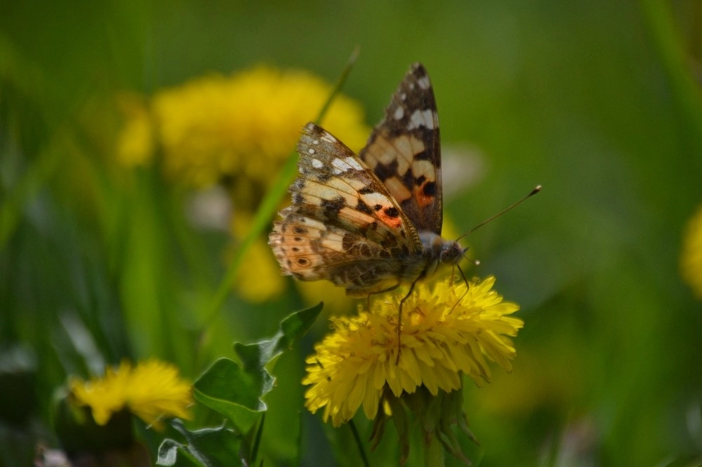
[[[334,318],[334,332],[306,360],[306,407],[324,407],[324,420],[339,426],[361,405],[375,418],[383,391],[399,398],[423,387],[436,396],[461,388],[464,373],[478,385],[489,381],[489,361],[512,370],[515,348],[508,336],[523,322],[508,316],[519,306],[503,302],[491,290],[494,283],[494,277],[475,280],[467,291],[465,283],[449,280],[433,290],[418,284],[404,303],[399,363],[397,310],[404,294],[376,300],[373,313]]]

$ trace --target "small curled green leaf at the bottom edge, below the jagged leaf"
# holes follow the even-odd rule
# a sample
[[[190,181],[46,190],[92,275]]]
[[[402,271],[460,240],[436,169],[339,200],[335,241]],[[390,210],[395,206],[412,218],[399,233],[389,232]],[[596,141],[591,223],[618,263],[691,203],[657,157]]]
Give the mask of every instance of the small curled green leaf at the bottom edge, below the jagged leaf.
[[[158,466],[169,467],[228,467],[243,466],[239,451],[241,440],[231,428],[204,428],[188,431],[176,419],[172,422],[187,444],[166,439],[159,447]]]

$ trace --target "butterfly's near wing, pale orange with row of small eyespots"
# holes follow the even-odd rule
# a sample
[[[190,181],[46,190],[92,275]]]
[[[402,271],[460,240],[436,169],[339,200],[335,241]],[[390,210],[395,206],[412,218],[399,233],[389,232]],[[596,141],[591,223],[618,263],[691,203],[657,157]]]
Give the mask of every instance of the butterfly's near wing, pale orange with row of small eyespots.
[[[416,229],[376,175],[345,144],[308,123],[298,142],[293,204],[270,234],[282,272],[328,279],[365,296],[399,282],[397,257],[421,254]]]

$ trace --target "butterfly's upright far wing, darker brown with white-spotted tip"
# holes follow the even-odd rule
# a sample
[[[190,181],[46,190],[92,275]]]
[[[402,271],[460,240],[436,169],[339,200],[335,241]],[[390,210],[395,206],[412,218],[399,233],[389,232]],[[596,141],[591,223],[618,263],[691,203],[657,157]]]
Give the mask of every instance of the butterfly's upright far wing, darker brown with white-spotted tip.
[[[441,235],[439,117],[429,75],[413,65],[359,154],[418,231]]]

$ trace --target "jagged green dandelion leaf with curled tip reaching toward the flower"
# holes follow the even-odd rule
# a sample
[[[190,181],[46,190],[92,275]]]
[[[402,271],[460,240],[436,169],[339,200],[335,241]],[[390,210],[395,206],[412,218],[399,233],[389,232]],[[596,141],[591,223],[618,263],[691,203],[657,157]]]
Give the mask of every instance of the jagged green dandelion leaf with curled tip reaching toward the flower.
[[[322,311],[322,303],[296,311],[280,323],[272,339],[254,344],[234,344],[241,365],[220,358],[193,384],[194,397],[212,410],[223,414],[240,433],[246,433],[261,412],[267,410],[261,398],[274,385],[274,377],[266,370],[274,358],[291,348],[310,329]]]

